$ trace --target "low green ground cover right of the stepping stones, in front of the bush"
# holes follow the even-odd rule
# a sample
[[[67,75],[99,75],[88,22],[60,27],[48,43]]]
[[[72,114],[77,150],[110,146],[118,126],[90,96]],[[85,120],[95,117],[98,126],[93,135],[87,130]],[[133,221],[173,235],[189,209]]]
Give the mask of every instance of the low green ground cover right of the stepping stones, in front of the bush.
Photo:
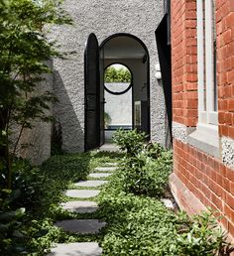
[[[210,213],[189,219],[160,199],[125,192],[121,171],[99,195],[102,218],[109,223],[101,242],[103,255],[229,255],[224,236]]]

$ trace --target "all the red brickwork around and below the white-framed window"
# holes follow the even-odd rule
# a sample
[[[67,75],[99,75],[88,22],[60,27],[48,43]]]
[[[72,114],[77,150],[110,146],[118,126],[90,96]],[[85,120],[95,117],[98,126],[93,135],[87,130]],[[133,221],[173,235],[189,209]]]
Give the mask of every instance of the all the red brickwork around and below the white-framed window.
[[[234,0],[216,0],[219,134],[234,139]],[[173,120],[197,123],[196,1],[172,0]],[[175,139],[174,175],[234,236],[234,170]],[[179,191],[179,188],[176,188]],[[179,201],[189,211],[189,201]],[[186,204],[186,205],[185,205]]]

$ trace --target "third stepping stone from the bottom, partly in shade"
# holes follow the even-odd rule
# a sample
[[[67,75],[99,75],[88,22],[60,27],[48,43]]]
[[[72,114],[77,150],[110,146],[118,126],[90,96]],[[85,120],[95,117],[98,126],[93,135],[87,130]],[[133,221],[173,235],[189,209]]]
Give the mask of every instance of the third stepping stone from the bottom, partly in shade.
[[[63,209],[78,213],[88,213],[97,210],[98,206],[95,201],[71,200],[61,203]]]

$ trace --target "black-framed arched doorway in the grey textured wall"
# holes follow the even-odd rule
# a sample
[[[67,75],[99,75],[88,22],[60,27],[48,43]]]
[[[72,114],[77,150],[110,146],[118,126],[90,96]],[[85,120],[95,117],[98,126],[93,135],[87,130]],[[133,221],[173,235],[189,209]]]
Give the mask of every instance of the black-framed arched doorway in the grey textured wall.
[[[115,120],[112,125],[105,127],[105,140],[109,140],[111,134],[120,127],[123,129],[137,128],[146,132],[150,138],[150,59],[147,47],[139,38],[133,35],[115,34],[101,44],[100,57],[101,66],[103,67],[103,70],[101,70],[101,86],[102,84],[104,85],[103,102],[106,105],[111,103],[112,107],[114,106],[116,113],[112,113],[115,116],[117,112],[122,115],[119,118],[119,123],[116,123],[117,120]],[[112,97],[109,97],[112,102],[108,102],[106,95],[109,95],[109,91],[105,86],[104,73],[105,69],[112,64],[126,66],[132,77],[131,86],[126,87],[124,93],[113,94]],[[130,88],[131,91],[129,90]],[[121,96],[122,100],[120,100]],[[131,110],[129,110],[129,104],[131,104]],[[107,108],[106,105],[104,106],[104,111]],[[128,109],[128,113],[123,112],[125,107]],[[131,124],[130,122],[124,123],[123,120],[126,122],[126,116],[129,116],[130,112]],[[105,111],[106,113],[108,112]]]

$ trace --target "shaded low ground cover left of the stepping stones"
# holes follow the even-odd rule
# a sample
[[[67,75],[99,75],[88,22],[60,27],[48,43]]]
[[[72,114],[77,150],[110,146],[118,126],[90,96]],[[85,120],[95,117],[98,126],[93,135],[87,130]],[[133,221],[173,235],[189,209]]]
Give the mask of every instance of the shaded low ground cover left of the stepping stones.
[[[103,152],[63,154],[53,156],[37,168],[18,159],[14,165],[17,170],[14,193],[0,194],[0,255],[41,256],[56,242],[99,241],[101,235],[68,234],[54,226],[54,222],[98,218],[98,212],[81,214],[62,210],[59,203],[65,199],[63,192],[73,183],[86,180],[95,167],[117,162],[121,157]]]

